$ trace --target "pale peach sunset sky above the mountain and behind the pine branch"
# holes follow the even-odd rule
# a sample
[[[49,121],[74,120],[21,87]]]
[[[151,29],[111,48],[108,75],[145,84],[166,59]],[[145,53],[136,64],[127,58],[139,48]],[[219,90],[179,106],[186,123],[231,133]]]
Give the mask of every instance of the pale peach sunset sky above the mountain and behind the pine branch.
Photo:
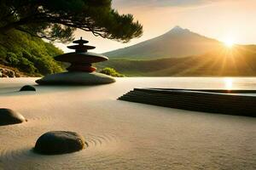
[[[75,31],[75,37],[96,46],[90,50],[104,53],[158,37],[174,26],[181,26],[206,37],[237,44],[256,44],[256,0],[113,0],[119,14],[133,14],[143,25],[143,36],[130,42],[95,37],[90,32]],[[64,52],[67,45],[55,43]]]

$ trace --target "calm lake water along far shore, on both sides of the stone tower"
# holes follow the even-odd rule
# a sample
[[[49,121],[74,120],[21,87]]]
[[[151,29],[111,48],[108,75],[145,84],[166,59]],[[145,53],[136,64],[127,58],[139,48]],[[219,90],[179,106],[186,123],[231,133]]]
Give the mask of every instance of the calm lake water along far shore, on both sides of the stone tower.
[[[250,89],[256,90],[256,77],[128,77],[117,78],[129,82],[133,79],[141,79],[143,82],[135,88],[198,88],[198,89]],[[165,81],[163,81],[165,79]],[[35,78],[1,78],[0,88],[20,87],[23,84],[36,84]],[[155,85],[152,82],[164,82]]]

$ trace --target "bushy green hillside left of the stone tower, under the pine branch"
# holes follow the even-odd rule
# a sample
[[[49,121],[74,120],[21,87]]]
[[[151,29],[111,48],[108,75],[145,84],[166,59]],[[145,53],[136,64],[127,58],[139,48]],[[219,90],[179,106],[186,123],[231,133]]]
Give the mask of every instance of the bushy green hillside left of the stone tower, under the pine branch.
[[[17,68],[29,76],[62,71],[53,57],[63,52],[49,42],[20,31],[0,34],[0,64]]]

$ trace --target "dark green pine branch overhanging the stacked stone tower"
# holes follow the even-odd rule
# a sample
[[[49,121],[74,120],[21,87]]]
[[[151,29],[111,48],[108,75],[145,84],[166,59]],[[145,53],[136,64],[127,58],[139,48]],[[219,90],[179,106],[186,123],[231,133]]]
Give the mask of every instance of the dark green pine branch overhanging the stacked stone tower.
[[[77,28],[96,36],[128,42],[143,34],[131,14],[119,14],[111,0],[1,0],[0,34],[15,29],[68,42]]]

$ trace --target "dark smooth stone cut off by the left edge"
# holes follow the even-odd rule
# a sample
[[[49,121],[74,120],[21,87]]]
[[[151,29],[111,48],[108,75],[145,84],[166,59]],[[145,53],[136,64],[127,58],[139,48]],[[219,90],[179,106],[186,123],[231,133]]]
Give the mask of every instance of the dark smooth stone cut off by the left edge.
[[[20,113],[10,109],[0,108],[0,126],[25,122],[26,119]]]

